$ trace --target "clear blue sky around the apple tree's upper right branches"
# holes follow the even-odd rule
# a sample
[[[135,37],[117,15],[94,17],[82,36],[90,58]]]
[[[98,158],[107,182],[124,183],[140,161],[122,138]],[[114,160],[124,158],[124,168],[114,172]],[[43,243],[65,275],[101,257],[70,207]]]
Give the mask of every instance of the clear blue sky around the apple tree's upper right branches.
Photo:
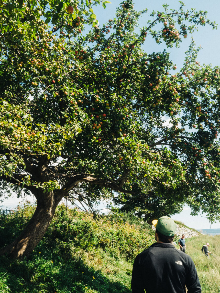
[[[99,20],[100,26],[103,23],[106,23],[108,19],[114,18],[116,13],[116,7],[119,7],[122,1],[112,0],[111,4],[106,4],[106,9],[104,10],[101,6],[94,7],[94,12],[97,15],[97,19]],[[198,1],[198,0],[186,0],[183,1],[186,6],[185,9],[196,8],[196,11],[203,10],[208,11],[208,19],[211,21],[219,21],[219,10],[220,10],[220,1],[219,0],[209,0],[209,1]],[[136,0],[134,1],[134,9],[135,10],[143,10],[144,8],[148,8],[148,13],[146,16],[142,16],[140,19],[139,27],[143,27],[146,25],[146,20],[149,19],[149,14],[154,11],[163,11],[162,4],[169,4],[169,8],[178,9],[179,1],[178,0],[157,0],[157,1],[143,1]],[[219,23],[220,25],[220,23]],[[220,44],[220,28],[218,30],[212,30],[209,25],[200,26],[199,31],[194,32],[193,34],[194,41],[196,45],[202,46],[202,50],[200,50],[198,55],[198,61],[203,64],[220,65],[220,55],[219,55],[219,44]],[[170,56],[173,62],[177,64],[177,70],[183,64],[185,51],[187,51],[189,47],[191,37],[187,36],[187,39],[184,39],[181,47],[179,49],[172,48],[167,49],[167,52],[171,52]],[[156,44],[155,41],[151,41],[150,36],[146,37],[145,45],[143,46],[146,52],[152,53],[157,51],[163,51],[165,49],[164,44]]]

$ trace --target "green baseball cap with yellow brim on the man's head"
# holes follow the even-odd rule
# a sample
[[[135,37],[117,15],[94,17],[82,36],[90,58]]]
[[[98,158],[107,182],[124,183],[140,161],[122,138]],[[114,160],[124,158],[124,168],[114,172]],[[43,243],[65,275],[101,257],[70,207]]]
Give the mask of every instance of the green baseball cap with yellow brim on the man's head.
[[[177,224],[174,220],[167,216],[160,217],[158,220],[153,220],[152,224],[165,236],[173,236],[177,229]]]

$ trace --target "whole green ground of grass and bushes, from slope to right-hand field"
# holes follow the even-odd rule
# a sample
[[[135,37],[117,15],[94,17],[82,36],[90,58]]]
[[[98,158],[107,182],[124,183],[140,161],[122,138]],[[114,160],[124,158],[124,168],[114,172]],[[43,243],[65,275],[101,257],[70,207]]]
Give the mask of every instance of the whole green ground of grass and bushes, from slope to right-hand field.
[[[17,215],[0,220],[0,247],[18,235],[33,211],[27,205]],[[216,258],[201,253],[207,241]],[[220,292],[219,241],[220,236],[187,240],[203,293]],[[109,214],[95,221],[77,209],[59,206],[29,259],[0,259],[0,292],[130,293],[133,260],[153,242],[151,227],[132,215]]]

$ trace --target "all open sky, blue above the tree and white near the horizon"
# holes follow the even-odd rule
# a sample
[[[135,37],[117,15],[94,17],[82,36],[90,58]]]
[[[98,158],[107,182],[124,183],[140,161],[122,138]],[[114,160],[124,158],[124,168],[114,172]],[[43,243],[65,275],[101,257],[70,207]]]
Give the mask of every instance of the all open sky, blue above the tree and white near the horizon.
[[[186,4],[185,8],[196,8],[196,11],[199,10],[207,10],[208,18],[211,21],[219,21],[219,11],[220,11],[220,1],[219,0],[209,0],[209,1],[198,1],[198,0],[186,0],[183,2]],[[102,7],[94,7],[94,13],[96,13],[97,18],[99,20],[100,25],[108,21],[109,18],[114,18],[116,13],[116,7],[119,6],[121,1],[112,0],[111,4],[106,4],[106,9],[104,10]],[[134,9],[143,10],[144,8],[148,8],[149,15],[153,10],[162,11],[162,4],[167,3],[170,5],[170,8],[178,9],[179,1],[178,0],[170,0],[170,1],[144,1],[144,0],[136,0],[134,1]],[[140,27],[145,26],[145,21],[147,19],[147,15],[142,17],[140,20]],[[198,54],[197,61],[200,64],[213,64],[213,66],[219,65],[220,67],[220,23],[219,28],[217,30],[212,30],[212,28],[208,25],[205,27],[199,26],[199,31],[195,32],[194,41],[196,45],[201,45],[202,49]],[[184,39],[181,47],[179,49],[172,48],[167,49],[167,52],[170,52],[170,57],[173,62],[177,65],[177,71],[182,67],[185,58],[185,51],[187,51],[189,43],[190,43],[190,35],[188,35],[187,39]],[[152,41],[149,38],[146,38],[145,44],[143,46],[146,52],[158,52],[163,51],[165,49],[164,44],[156,44],[155,41]],[[29,198],[30,199],[30,198]],[[33,199],[31,198],[33,201]],[[18,204],[19,200],[16,197],[13,197],[9,200],[4,201],[4,207],[8,207],[9,209],[13,209]],[[4,208],[1,207],[1,208]],[[203,215],[204,216],[204,215]],[[209,229],[209,221],[198,216],[190,216],[190,208],[185,206],[183,211],[180,214],[174,215],[172,217],[175,220],[184,222],[187,226],[194,229]],[[220,228],[220,222],[211,224],[212,229]]]

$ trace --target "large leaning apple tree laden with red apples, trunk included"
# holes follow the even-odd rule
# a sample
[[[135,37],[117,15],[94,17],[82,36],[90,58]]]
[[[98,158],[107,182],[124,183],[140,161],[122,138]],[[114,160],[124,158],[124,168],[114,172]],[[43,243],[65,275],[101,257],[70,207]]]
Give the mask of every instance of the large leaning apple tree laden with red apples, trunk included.
[[[91,209],[110,199],[147,220],[187,203],[219,219],[219,69],[199,64],[192,41],[172,74],[165,49],[215,23],[181,2],[137,33],[147,11],[128,0],[99,27],[99,3],[0,2],[1,194],[37,201],[0,254],[29,255],[63,198]],[[148,38],[164,51],[144,52]]]

